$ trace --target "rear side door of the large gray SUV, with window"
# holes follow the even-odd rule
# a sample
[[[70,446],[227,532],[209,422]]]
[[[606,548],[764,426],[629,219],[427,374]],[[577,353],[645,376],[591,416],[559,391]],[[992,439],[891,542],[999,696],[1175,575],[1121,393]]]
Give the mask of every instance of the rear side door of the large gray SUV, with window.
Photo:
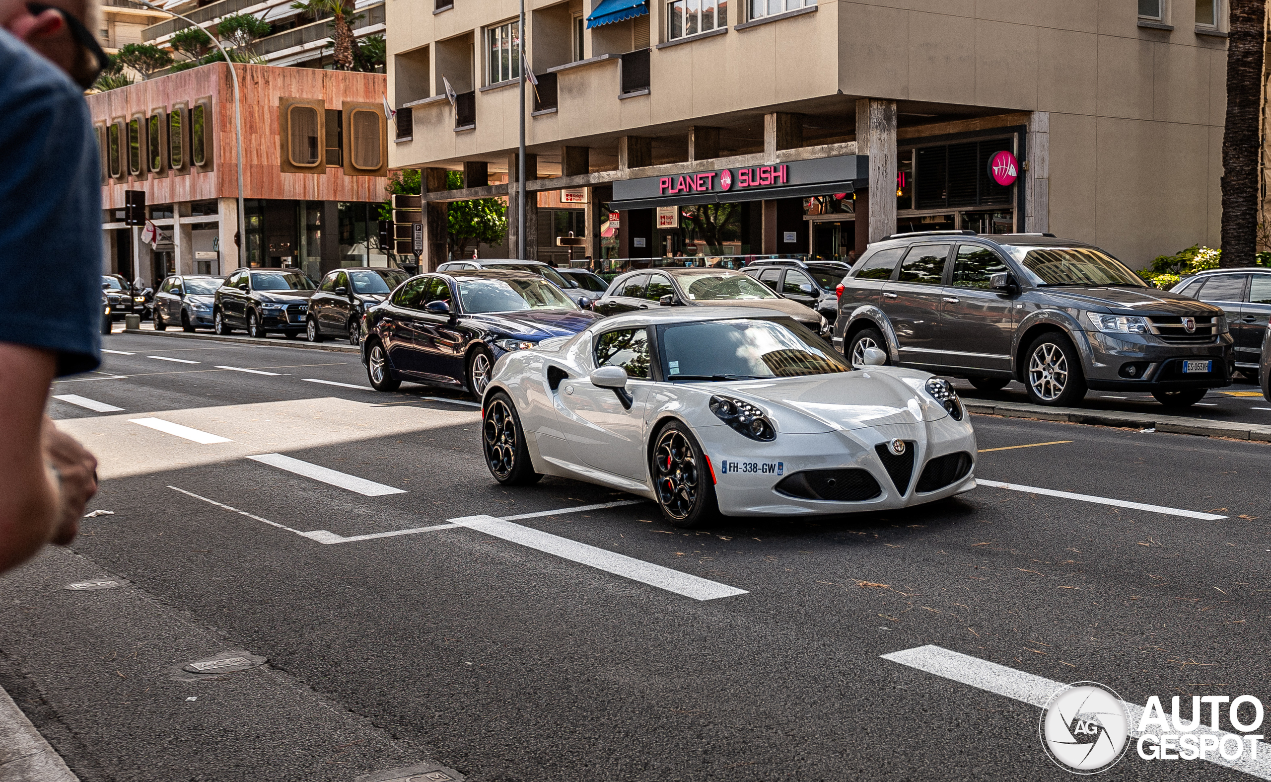
[[[942,365],[941,309],[944,267],[952,244],[915,244],[882,289],[881,308],[891,320],[901,364]]]

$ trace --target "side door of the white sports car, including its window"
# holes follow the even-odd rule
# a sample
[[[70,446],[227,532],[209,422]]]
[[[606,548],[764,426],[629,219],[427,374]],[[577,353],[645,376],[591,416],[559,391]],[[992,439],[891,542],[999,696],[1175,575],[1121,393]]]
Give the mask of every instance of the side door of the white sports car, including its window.
[[[644,409],[653,390],[649,379],[649,329],[623,328],[600,333],[592,342],[592,367],[627,370],[630,408],[611,388],[587,378],[566,380],[561,394],[562,431],[574,456],[599,470],[644,482]]]

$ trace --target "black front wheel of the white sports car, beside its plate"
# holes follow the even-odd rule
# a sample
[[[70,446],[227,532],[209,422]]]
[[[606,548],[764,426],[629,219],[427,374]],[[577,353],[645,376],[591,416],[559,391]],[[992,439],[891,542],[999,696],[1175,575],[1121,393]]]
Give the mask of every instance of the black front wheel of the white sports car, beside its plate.
[[[697,529],[719,515],[714,481],[697,437],[679,421],[657,432],[649,474],[662,518],[684,529]]]

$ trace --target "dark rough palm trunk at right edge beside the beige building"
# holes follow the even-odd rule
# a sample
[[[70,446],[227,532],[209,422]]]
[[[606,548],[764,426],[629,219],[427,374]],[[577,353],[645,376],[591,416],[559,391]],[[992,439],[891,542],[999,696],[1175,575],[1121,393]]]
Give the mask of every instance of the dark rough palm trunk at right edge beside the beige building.
[[[1266,0],[1230,0],[1227,41],[1227,127],[1223,130],[1223,257],[1253,266],[1258,234],[1258,120]]]

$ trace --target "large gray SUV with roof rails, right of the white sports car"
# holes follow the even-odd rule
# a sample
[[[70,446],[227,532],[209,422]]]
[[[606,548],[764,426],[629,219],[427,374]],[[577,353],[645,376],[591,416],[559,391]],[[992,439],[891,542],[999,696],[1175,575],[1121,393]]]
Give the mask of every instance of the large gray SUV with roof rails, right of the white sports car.
[[[1087,389],[1150,392],[1186,407],[1232,384],[1223,310],[1149,287],[1097,247],[1051,234],[894,234],[843,280],[834,343],[853,366],[868,347],[888,364],[966,378],[981,390],[1019,380],[1037,404]]]

